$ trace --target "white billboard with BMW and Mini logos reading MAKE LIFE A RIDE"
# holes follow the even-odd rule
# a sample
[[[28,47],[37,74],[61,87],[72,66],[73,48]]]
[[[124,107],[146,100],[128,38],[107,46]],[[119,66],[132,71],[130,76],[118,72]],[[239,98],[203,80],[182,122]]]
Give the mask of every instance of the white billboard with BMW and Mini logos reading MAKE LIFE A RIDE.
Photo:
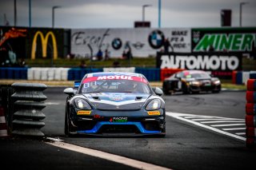
[[[190,29],[73,29],[71,53],[76,57],[94,57],[98,50],[110,57],[122,57],[128,49],[134,57],[155,56],[163,50],[164,40],[170,42],[170,52],[189,53]]]

